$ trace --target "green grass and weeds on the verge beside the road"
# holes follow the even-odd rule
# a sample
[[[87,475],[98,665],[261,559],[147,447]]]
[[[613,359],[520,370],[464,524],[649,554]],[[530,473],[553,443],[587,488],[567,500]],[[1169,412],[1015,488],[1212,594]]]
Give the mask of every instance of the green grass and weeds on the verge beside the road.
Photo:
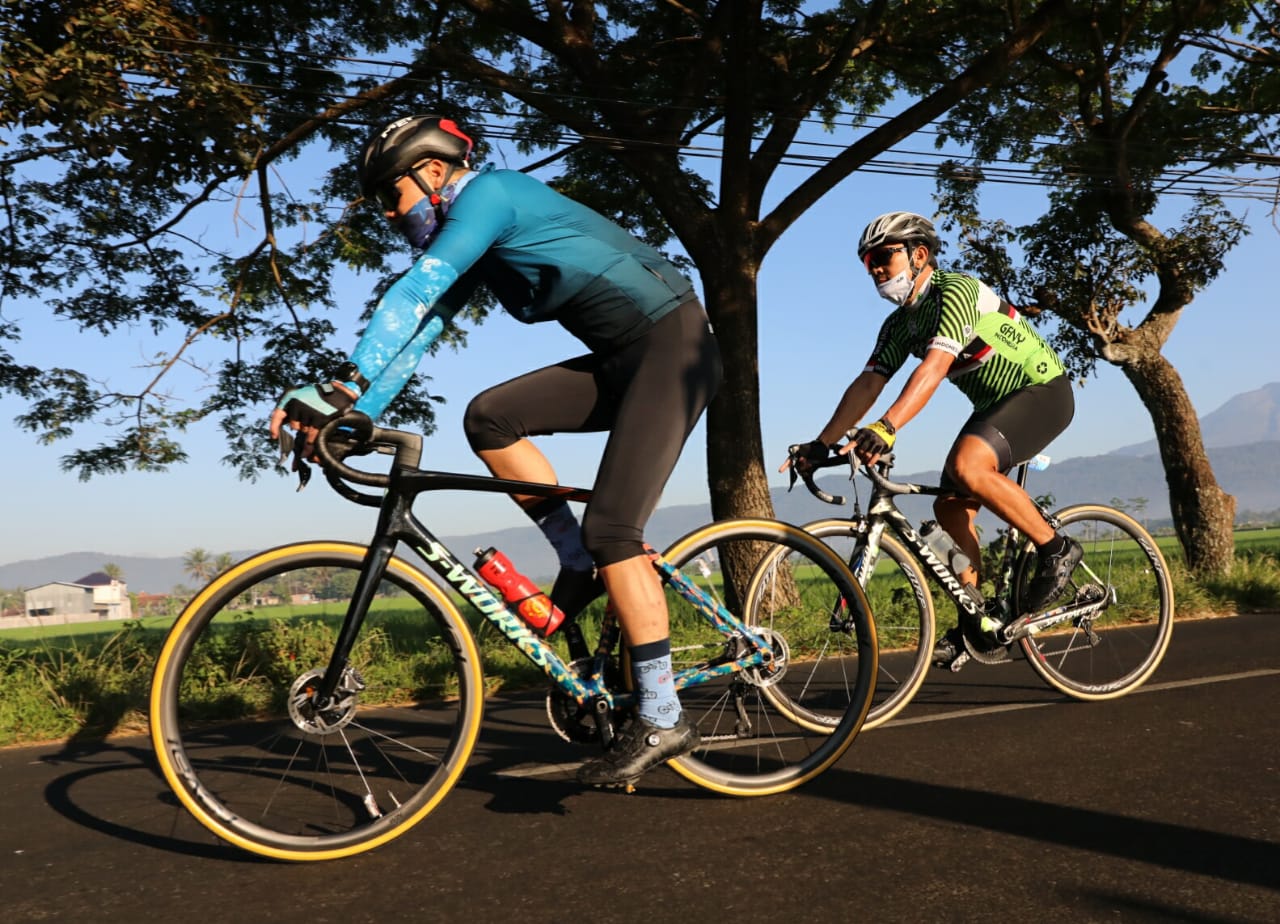
[[[1180,618],[1242,610],[1280,610],[1280,530],[1236,535],[1236,561],[1226,578],[1196,580],[1183,563],[1171,536],[1158,540],[1174,577]],[[1117,554],[1123,562],[1129,553]],[[1137,559],[1137,553],[1133,553]],[[801,596],[810,585],[815,599],[826,600],[803,570],[797,572]],[[721,593],[718,582],[717,593]],[[910,632],[895,625],[895,613],[910,612],[902,586],[892,586],[877,572],[869,587],[882,649],[914,644]],[[934,589],[940,631],[954,622],[954,605]],[[237,614],[195,682],[225,690],[210,697],[211,714],[232,714],[278,705],[283,678],[298,673],[298,663],[321,664],[342,622],[344,604],[311,607],[257,607]],[[813,607],[813,630],[822,635],[829,607]],[[588,637],[599,631],[603,604],[593,604],[581,617]],[[705,623],[689,607],[672,608],[672,642],[676,646],[717,644]],[[901,621],[899,621],[901,622]],[[168,617],[147,617],[128,623],[72,623],[47,628],[0,632],[0,745],[70,737],[101,737],[120,731],[141,731],[146,722],[151,671]],[[474,628],[479,627],[479,618]],[[796,631],[796,637],[800,637]],[[481,658],[489,689],[527,689],[541,685],[544,674],[497,632],[481,632]],[[562,644],[562,642],[561,642]],[[421,613],[404,596],[374,601],[367,631],[357,651],[371,691],[384,701],[448,695],[440,641],[425,627]],[[257,660],[250,669],[239,662],[246,651]],[[564,655],[563,648],[561,649]],[[794,657],[803,657],[794,651]],[[233,682],[225,678],[236,677]],[[219,699],[220,697],[220,699]],[[273,699],[274,697],[274,699]]]

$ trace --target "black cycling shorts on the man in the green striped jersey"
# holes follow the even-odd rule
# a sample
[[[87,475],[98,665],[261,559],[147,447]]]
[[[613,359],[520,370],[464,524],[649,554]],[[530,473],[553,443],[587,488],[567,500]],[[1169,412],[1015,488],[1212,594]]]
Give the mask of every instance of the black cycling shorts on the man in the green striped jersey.
[[[1071,379],[1060,375],[1043,385],[1027,385],[986,411],[975,412],[956,436],[977,436],[996,453],[996,467],[1009,472],[1039,453],[1075,416]],[[942,486],[955,488],[943,471]]]

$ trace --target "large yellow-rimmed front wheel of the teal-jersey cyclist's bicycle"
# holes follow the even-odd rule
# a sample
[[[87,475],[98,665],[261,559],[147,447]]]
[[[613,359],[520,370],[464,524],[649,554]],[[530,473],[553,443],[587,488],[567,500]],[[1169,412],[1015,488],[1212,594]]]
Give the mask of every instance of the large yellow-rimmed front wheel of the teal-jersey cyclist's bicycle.
[[[216,836],[284,860],[371,850],[457,782],[483,710],[458,610],[392,558],[334,701],[316,708],[365,548],[311,541],[219,575],[177,618],[151,683],[151,740]]]

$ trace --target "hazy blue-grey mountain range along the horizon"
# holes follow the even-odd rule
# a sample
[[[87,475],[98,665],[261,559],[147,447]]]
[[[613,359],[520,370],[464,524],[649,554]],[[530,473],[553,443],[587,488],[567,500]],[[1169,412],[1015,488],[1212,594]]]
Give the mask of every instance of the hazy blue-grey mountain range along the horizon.
[[[1280,383],[1265,385],[1230,398],[1216,411],[1201,417],[1201,431],[1210,462],[1219,484],[1236,498],[1238,517],[1267,514],[1280,511]],[[1052,463],[1028,480],[1032,495],[1051,494],[1053,506],[1074,503],[1111,503],[1119,499],[1134,516],[1148,525],[1169,520],[1169,493],[1165,472],[1156,454],[1155,442],[1137,443],[1103,456],[1088,456]],[[938,471],[895,472],[900,481],[937,484]],[[854,484],[847,475],[831,475],[819,484],[832,494],[851,498]],[[865,504],[868,482],[858,479],[856,489]],[[837,508],[813,498],[803,485],[787,491],[771,491],[773,509],[780,520],[804,523],[820,517],[846,514],[849,507]],[[929,516],[928,498],[901,498],[901,508],[913,520]],[[1140,507],[1140,509],[1139,509]],[[710,518],[709,504],[662,507],[649,521],[646,535],[655,548],[664,548]],[[989,514],[979,517],[984,530],[998,523]],[[480,545],[495,545],[506,552],[530,576],[547,578],[554,573],[556,559],[549,545],[532,527],[521,526],[481,535],[442,536],[445,545],[458,554]],[[256,549],[233,552],[236,559]],[[411,553],[406,553],[412,557]],[[182,557],[145,558],[113,555],[101,552],[74,552],[63,555],[14,562],[0,566],[0,587],[33,587],[50,581],[76,581],[100,571],[104,562],[120,566],[129,590],[169,593],[189,581]]]

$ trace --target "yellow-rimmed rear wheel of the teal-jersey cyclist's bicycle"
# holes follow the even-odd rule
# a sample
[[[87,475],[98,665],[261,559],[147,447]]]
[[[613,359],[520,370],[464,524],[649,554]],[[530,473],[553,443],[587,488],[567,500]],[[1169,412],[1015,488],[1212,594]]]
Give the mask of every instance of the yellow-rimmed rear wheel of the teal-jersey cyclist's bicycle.
[[[668,587],[673,667],[692,671],[680,681],[680,699],[701,733],[701,746],[671,767],[699,786],[740,796],[782,792],[831,767],[861,729],[876,683],[876,630],[849,567],[799,527],[771,520],[712,523],[664,557],[773,650],[759,668],[714,674],[740,653],[742,639],[717,631]],[[837,596],[854,601],[847,644],[840,658],[812,671],[795,653],[828,631]],[[813,714],[832,723],[806,721]]]

